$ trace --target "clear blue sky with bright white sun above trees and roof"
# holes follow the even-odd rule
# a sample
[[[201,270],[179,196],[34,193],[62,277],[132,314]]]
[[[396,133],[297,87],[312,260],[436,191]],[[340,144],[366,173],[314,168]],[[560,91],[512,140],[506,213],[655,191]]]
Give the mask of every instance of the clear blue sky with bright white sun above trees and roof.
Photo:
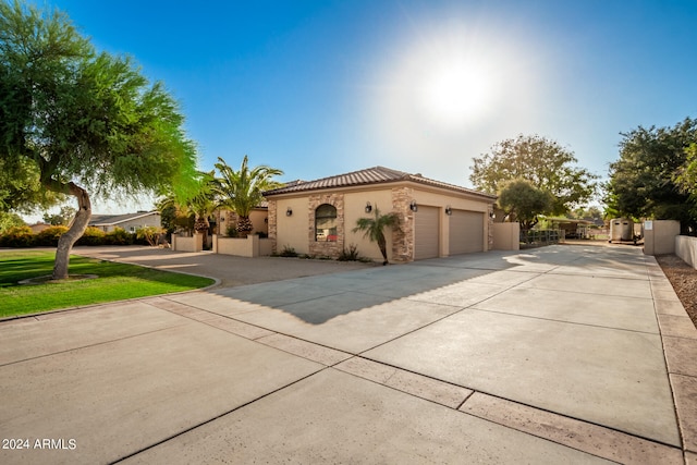
[[[621,132],[697,117],[696,1],[41,4],[166,84],[206,170],[246,154],[282,181],[386,166],[470,186],[473,157],[539,134],[606,178]]]

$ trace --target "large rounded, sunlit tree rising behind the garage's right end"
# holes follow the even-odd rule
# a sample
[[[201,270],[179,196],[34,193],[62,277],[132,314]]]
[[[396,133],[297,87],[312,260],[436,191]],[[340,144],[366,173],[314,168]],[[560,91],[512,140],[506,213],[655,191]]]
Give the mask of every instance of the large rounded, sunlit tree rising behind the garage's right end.
[[[478,189],[496,194],[501,183],[523,179],[551,194],[549,210],[540,213],[564,215],[589,201],[597,188],[598,176],[576,167],[571,150],[538,135],[505,139],[473,161],[469,180]]]

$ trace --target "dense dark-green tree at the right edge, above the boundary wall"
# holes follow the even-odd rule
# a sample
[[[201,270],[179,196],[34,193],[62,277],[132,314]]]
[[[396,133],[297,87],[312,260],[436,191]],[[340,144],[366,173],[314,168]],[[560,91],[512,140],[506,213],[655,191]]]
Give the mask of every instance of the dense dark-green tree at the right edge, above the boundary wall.
[[[606,198],[610,211],[678,220],[683,232],[697,227],[692,183],[697,120],[687,118],[673,127],[638,126],[622,137],[620,158],[610,163]]]

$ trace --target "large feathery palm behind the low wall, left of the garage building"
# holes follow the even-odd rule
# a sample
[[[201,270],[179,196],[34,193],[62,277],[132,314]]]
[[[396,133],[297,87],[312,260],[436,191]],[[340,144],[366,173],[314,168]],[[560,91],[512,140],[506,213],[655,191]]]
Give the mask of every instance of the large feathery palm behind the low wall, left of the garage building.
[[[237,232],[243,237],[253,230],[249,213],[264,200],[262,193],[279,187],[281,183],[272,178],[283,174],[283,171],[264,164],[249,170],[247,163],[245,155],[240,170],[235,171],[225,160],[218,157],[216,169],[221,178],[215,180],[215,191],[220,198],[219,206],[237,213]]]

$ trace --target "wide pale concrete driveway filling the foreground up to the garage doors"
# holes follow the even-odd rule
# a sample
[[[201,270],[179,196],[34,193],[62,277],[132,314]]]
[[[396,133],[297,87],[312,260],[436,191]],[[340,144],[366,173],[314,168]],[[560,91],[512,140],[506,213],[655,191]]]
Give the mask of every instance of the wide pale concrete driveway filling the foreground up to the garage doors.
[[[641,250],[356,266],[1,322],[0,463],[697,463],[697,330]]]

